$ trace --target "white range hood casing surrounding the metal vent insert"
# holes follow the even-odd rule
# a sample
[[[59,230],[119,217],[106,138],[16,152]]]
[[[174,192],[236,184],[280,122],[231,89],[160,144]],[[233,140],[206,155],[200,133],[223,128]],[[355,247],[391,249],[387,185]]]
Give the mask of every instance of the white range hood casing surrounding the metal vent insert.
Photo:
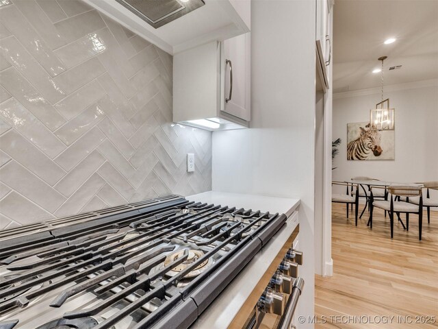
[[[164,6],[155,5],[156,0],[84,1],[171,55],[250,31],[250,0],[173,0]],[[190,11],[192,1],[201,7]],[[130,8],[129,3],[142,5],[145,14]],[[161,8],[168,13],[159,12]],[[166,23],[170,19],[174,20]]]

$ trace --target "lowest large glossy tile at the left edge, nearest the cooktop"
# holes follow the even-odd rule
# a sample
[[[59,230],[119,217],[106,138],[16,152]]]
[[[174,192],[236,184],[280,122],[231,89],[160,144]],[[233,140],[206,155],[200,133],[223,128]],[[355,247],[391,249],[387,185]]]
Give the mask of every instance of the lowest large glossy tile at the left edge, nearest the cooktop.
[[[19,195],[14,191],[1,199],[0,212],[21,225],[55,218],[50,212],[47,212],[29,199],[23,197],[23,195]]]

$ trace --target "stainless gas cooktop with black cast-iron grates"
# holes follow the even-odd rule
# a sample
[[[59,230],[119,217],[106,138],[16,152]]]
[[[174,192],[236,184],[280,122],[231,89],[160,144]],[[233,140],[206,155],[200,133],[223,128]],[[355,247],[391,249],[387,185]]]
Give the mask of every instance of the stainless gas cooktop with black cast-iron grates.
[[[0,328],[188,328],[286,216],[178,195],[0,232]]]

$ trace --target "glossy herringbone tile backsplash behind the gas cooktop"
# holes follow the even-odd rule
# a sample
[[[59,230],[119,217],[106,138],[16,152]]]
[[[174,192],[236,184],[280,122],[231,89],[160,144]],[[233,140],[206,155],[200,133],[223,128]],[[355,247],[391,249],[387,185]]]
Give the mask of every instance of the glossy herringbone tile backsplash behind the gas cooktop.
[[[86,3],[1,0],[0,85],[0,229],[211,189],[211,133],[172,123],[172,57]]]

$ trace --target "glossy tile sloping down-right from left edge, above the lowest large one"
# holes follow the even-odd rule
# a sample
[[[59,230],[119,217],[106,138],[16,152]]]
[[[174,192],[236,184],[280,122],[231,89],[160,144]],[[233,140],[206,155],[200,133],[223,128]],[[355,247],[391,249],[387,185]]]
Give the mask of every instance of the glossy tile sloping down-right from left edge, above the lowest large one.
[[[49,212],[55,211],[66,200],[66,197],[15,161],[1,167],[0,177],[3,184]]]

